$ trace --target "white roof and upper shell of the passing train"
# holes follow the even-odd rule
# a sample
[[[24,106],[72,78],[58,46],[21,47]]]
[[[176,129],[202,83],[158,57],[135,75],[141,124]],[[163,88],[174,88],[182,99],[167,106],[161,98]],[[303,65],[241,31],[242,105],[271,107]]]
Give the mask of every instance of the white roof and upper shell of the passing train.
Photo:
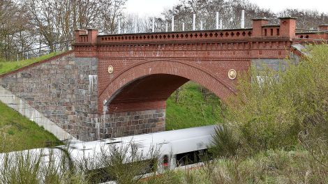
[[[98,141],[77,142],[68,146],[57,146],[57,148],[67,149],[70,158],[80,160],[81,158],[97,158],[99,155],[111,151],[112,146],[124,148],[124,146],[135,146],[142,154],[148,154],[151,149],[159,151],[160,155],[187,153],[207,148],[211,143],[216,125],[207,125],[197,128],[186,128],[181,130],[170,130],[165,132],[155,132],[144,135],[133,135],[114,139],[102,139]],[[59,149],[36,148],[26,151],[15,151],[10,153],[0,153],[0,158],[6,154],[15,153],[42,153],[45,160],[49,160],[48,155],[61,155]],[[105,152],[104,152],[105,151]],[[129,155],[130,153],[127,153]],[[0,163],[1,163],[0,159]],[[47,161],[45,161],[47,162]],[[90,159],[90,162],[93,162]]]

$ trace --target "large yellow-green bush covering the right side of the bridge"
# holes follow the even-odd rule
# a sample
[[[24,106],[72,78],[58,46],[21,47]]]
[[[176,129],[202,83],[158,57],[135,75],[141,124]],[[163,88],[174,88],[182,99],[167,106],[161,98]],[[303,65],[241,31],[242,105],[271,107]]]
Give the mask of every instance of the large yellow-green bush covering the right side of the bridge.
[[[240,77],[225,119],[234,126],[239,152],[291,148],[299,142],[299,132],[313,131],[318,124],[325,127],[320,135],[327,135],[328,45],[311,45],[306,52],[308,57],[298,64],[290,61],[285,72],[252,68]],[[230,139],[222,135],[217,133],[216,139]]]

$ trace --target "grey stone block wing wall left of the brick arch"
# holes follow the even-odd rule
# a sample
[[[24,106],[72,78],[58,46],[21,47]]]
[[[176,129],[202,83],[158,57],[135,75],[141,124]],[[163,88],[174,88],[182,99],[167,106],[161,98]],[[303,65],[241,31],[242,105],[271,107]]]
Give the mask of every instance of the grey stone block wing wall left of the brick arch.
[[[73,53],[0,77],[0,84],[71,135],[78,134],[75,101],[77,65]]]

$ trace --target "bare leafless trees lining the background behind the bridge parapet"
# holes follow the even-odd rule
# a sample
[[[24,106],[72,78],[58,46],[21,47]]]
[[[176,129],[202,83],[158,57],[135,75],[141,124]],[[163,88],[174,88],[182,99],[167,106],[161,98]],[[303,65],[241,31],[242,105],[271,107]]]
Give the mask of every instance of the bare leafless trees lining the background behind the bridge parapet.
[[[2,0],[0,1],[0,58],[12,60],[17,53],[47,45],[50,52],[69,49],[75,29],[98,28],[102,33],[152,31],[153,17],[124,14],[127,0]],[[193,28],[196,14],[196,29],[216,29],[216,12],[223,21],[223,29],[240,27],[241,10],[246,13],[246,27],[252,26],[254,17],[267,17],[270,24],[278,23],[276,17],[298,17],[297,28],[317,29],[327,24],[327,13],[315,10],[286,9],[274,14],[259,8],[248,0],[180,0],[176,6],[155,17],[155,31],[171,30],[174,16],[174,31]],[[59,43],[59,44],[58,44]],[[40,49],[39,51],[40,52]],[[23,55],[23,54],[22,54]]]

